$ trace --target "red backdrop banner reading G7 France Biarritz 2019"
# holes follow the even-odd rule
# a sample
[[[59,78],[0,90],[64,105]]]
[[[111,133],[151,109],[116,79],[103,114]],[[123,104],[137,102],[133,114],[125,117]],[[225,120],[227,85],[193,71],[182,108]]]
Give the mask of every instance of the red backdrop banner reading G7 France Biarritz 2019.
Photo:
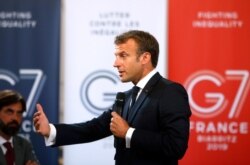
[[[169,1],[169,78],[184,84],[191,136],[180,164],[249,164],[250,1]]]

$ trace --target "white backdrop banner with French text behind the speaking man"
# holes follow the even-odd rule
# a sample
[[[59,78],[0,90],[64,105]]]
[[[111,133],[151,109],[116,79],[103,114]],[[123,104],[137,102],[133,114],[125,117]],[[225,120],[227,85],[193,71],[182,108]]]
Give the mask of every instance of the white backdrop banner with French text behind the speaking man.
[[[154,9],[154,10],[152,10]],[[152,33],[160,43],[157,70],[165,75],[166,1],[66,0],[62,52],[64,63],[64,121],[90,120],[112,106],[122,84],[113,68],[114,37],[129,29]],[[114,164],[113,137],[65,146],[64,164]]]

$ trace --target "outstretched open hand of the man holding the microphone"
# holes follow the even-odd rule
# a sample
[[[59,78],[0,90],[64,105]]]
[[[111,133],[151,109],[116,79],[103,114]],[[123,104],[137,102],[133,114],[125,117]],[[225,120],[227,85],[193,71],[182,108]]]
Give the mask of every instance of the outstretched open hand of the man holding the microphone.
[[[45,115],[43,108],[40,104],[36,105],[36,109],[37,109],[37,112],[33,116],[33,123],[36,129],[36,132],[48,138],[50,134],[48,118]]]

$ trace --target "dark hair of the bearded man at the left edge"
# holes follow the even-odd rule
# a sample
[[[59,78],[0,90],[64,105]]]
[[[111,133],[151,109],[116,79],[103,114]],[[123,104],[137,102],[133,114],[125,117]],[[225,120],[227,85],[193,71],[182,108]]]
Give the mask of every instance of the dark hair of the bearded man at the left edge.
[[[8,106],[10,104],[14,104],[18,102],[22,104],[22,110],[25,111],[26,102],[23,96],[19,92],[14,91],[14,90],[9,90],[9,89],[0,91],[0,110],[4,106]]]

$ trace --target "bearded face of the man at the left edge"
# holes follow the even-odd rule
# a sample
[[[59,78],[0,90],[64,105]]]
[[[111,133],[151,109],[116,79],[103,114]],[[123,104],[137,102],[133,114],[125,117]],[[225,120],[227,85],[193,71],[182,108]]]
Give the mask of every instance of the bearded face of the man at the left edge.
[[[22,121],[22,105],[14,103],[3,107],[0,110],[0,131],[6,136],[13,136],[18,133]]]

